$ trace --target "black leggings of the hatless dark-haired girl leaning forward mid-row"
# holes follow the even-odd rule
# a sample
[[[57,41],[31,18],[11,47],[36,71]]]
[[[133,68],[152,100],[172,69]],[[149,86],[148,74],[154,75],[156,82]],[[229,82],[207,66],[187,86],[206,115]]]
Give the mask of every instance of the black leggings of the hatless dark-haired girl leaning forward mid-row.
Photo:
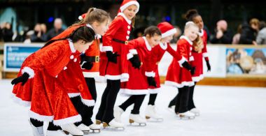
[[[124,103],[122,103],[119,107],[125,111],[127,109],[127,107],[134,104],[134,107],[133,107],[131,113],[132,114],[139,114],[139,109],[141,108],[141,104],[143,103],[145,96],[146,95],[132,95]]]

